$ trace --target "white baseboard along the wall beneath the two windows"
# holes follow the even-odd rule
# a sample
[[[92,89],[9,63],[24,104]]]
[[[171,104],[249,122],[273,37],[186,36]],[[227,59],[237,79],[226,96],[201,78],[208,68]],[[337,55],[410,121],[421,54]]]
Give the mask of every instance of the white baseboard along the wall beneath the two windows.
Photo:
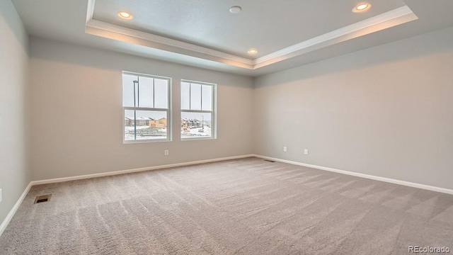
[[[140,172],[140,171],[150,171],[150,170],[156,170],[156,169],[167,169],[167,168],[177,167],[177,166],[190,166],[190,165],[193,165],[193,164],[219,162],[219,161],[230,160],[230,159],[243,159],[243,158],[246,158],[246,157],[253,157],[253,154],[234,156],[234,157],[223,157],[223,158],[217,158],[217,159],[205,159],[205,160],[199,160],[199,161],[195,161],[195,162],[183,162],[183,163],[167,164],[167,165],[161,165],[161,166],[149,166],[149,167],[143,167],[143,168],[139,168],[139,169],[127,169],[127,170],[120,170],[120,171],[110,171],[110,172],[99,173],[99,174],[86,174],[86,175],[81,175],[81,176],[71,176],[71,177],[63,177],[63,178],[56,178],[56,179],[47,179],[47,180],[40,180],[40,181],[32,181],[31,183],[32,183],[32,186],[33,186],[33,185],[40,185],[40,184],[47,184],[47,183],[58,183],[58,182],[64,182],[64,181],[75,181],[75,180],[90,179],[90,178],[103,177],[103,176],[113,176],[113,175],[118,175],[118,174],[130,174],[130,173],[136,173],[136,172]]]

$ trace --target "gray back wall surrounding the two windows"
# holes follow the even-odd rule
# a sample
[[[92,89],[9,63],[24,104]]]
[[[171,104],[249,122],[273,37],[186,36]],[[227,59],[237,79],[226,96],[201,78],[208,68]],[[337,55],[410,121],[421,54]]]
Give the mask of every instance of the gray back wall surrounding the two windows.
[[[122,143],[122,70],[173,78],[173,142]],[[218,85],[217,140],[180,141],[180,79]],[[250,77],[31,38],[33,180],[251,154],[252,86]]]

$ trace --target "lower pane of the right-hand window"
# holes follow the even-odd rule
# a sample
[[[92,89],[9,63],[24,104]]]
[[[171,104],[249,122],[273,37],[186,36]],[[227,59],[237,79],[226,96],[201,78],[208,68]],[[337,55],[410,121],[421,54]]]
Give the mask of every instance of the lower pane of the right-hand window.
[[[181,138],[211,137],[211,113],[181,113]]]

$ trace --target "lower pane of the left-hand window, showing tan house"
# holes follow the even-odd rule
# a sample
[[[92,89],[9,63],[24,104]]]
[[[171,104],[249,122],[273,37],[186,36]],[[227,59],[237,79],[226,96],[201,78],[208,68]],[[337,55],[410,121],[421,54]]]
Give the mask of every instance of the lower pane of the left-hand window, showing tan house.
[[[136,118],[134,118],[134,113]],[[135,121],[134,121],[135,120]],[[125,140],[167,138],[166,111],[125,110]]]

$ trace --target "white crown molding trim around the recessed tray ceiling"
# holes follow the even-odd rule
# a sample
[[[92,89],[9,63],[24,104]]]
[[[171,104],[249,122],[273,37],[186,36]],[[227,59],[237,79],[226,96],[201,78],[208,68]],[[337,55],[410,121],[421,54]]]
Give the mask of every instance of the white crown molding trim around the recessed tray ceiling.
[[[245,69],[258,69],[260,67],[265,67],[270,64],[287,60],[291,57],[296,57],[307,52],[321,49],[322,47],[335,45],[339,42],[358,38],[362,35],[367,35],[369,33],[374,33],[379,30],[384,30],[386,28],[391,28],[393,26],[398,26],[418,19],[418,17],[415,16],[415,13],[411,11],[411,8],[408,6],[401,6],[399,8],[395,8],[394,10],[387,11],[386,13],[367,18],[364,21],[353,23],[349,26],[333,30],[329,33],[316,36],[315,38],[299,42],[295,45],[285,47],[282,50],[277,50],[268,55],[264,55],[263,57],[258,57],[256,60],[252,60],[246,57],[231,55],[219,50],[212,50],[209,47],[202,47],[189,42],[183,42],[153,33],[147,33],[132,28],[117,26],[112,23],[98,21],[93,19],[94,7],[95,0],[88,0],[85,29],[86,33],[113,40],[130,42],[145,47],[153,47],[167,52],[221,62]]]

